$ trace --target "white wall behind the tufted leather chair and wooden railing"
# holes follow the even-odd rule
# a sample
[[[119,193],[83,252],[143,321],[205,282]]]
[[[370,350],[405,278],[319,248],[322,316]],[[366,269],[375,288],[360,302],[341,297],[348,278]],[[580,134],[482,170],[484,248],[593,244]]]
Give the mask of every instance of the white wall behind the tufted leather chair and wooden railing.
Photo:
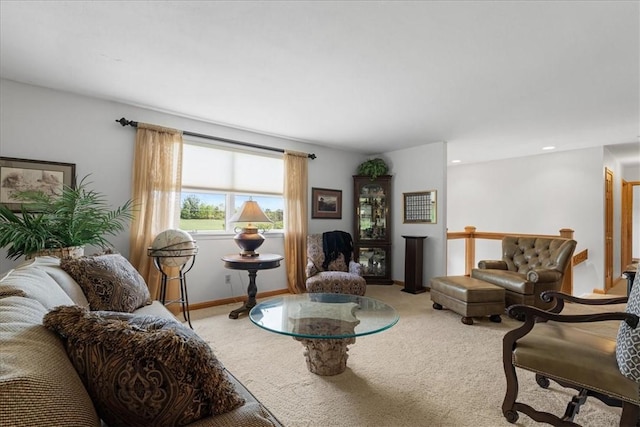
[[[557,234],[575,231],[574,295],[604,288],[603,149],[565,151],[447,168],[447,226],[463,231]],[[618,245],[619,246],[619,245]],[[464,244],[451,241],[448,274],[464,274]],[[480,240],[480,259],[500,259],[500,242]]]

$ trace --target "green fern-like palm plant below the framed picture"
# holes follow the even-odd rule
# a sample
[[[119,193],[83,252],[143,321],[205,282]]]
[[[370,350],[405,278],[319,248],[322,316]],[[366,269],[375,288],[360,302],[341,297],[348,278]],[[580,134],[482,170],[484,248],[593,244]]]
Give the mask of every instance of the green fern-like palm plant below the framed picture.
[[[88,188],[87,177],[75,188],[63,186],[60,194],[39,190],[13,194],[22,203],[19,214],[0,205],[0,247],[7,248],[7,258],[54,255],[85,245],[106,247],[105,236],[124,231],[133,217],[132,201],[111,209],[103,194]]]

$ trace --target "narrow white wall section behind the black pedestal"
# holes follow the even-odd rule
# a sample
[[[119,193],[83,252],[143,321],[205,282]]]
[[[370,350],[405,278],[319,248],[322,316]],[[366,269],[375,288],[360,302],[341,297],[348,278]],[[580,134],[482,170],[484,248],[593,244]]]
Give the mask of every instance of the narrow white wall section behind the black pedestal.
[[[428,236],[424,240],[423,285],[446,273],[447,177],[446,143],[437,142],[387,152],[383,156],[393,175],[392,245],[394,280],[404,282],[405,239],[403,235]],[[405,224],[403,193],[436,190],[435,224]]]

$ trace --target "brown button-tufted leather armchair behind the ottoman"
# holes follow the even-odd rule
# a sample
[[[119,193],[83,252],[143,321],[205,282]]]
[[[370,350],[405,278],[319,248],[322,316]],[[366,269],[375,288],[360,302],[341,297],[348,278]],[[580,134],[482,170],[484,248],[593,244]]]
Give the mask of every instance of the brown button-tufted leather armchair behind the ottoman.
[[[571,239],[506,236],[502,259],[480,261],[471,277],[503,287],[506,307],[526,304],[548,309],[552,304],[540,294],[561,289],[575,248]]]

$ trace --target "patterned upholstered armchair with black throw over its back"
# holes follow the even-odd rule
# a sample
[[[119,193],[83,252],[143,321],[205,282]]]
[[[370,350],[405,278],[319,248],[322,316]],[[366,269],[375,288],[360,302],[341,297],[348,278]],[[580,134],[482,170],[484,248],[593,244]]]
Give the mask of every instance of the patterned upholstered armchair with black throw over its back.
[[[364,295],[362,266],[353,260],[351,235],[332,231],[307,236],[307,292]]]

